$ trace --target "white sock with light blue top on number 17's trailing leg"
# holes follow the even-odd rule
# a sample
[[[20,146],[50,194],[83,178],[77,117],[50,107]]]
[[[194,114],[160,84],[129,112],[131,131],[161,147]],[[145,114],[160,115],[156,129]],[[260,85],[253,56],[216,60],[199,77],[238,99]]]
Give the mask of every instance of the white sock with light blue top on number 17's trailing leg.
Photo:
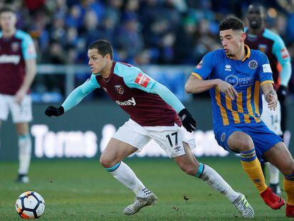
[[[240,195],[240,193],[237,193],[232,189],[232,187],[222,178],[222,176],[219,175],[219,173],[217,173],[217,171],[214,171],[213,168],[203,163],[200,163],[195,176],[205,181],[205,183],[214,190],[224,194],[232,203]]]

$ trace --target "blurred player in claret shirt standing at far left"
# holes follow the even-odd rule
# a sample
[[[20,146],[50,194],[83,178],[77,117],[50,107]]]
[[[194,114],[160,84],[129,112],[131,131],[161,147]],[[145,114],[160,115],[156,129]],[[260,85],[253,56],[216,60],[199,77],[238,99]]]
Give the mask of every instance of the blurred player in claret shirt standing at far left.
[[[0,126],[9,112],[18,134],[18,178],[28,183],[31,161],[31,136],[28,122],[32,120],[29,95],[36,76],[36,50],[28,33],[16,30],[16,11],[11,6],[0,9]]]

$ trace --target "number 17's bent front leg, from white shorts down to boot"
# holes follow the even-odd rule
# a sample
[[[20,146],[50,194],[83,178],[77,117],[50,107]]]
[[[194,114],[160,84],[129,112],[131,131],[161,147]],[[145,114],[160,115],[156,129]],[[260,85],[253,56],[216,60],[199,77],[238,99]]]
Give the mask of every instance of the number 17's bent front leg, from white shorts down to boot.
[[[100,163],[116,180],[133,190],[136,194],[134,203],[124,209],[124,214],[133,215],[142,207],[156,204],[156,195],[143,185],[134,171],[122,162],[124,158],[143,148],[150,141],[143,134],[143,127],[129,120],[116,131],[106,149],[100,156]]]

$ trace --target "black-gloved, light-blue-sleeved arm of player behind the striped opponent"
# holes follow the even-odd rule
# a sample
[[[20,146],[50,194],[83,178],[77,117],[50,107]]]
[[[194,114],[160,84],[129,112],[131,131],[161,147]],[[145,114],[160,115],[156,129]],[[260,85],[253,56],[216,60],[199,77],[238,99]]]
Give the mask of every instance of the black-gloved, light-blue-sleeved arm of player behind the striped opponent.
[[[287,94],[287,87],[292,73],[291,60],[290,55],[288,53],[287,48],[285,47],[285,43],[283,42],[280,36],[277,36],[275,43],[273,43],[273,54],[276,55],[278,63],[281,64],[281,85],[278,88],[277,95],[278,99],[283,102],[285,100],[285,96]]]

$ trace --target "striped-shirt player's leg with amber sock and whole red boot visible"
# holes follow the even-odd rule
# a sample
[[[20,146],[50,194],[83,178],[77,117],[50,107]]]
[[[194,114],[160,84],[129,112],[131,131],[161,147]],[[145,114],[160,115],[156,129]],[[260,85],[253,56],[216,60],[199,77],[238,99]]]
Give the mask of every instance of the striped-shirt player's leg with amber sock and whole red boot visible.
[[[234,131],[227,139],[227,144],[229,149],[239,151],[241,154],[242,168],[253,181],[266,205],[273,210],[281,208],[285,202],[266,185],[261,163],[256,156],[256,149],[251,136],[242,131]]]

